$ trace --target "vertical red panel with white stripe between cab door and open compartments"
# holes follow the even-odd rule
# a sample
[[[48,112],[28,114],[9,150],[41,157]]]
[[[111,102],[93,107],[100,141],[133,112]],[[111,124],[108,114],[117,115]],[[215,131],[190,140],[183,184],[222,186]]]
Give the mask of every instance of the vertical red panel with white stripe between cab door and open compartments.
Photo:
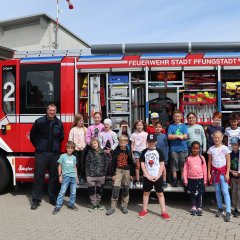
[[[74,120],[75,109],[75,67],[74,58],[64,58],[61,62],[61,120],[64,126],[62,152],[65,151],[68,134]]]

